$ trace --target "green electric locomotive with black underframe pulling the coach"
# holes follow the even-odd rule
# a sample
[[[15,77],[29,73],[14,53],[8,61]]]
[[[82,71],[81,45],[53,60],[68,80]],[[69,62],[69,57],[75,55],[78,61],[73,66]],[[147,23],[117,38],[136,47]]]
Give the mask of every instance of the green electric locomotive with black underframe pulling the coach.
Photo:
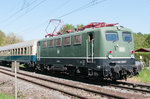
[[[136,75],[132,31],[115,25],[94,22],[39,40],[37,68],[114,80]]]

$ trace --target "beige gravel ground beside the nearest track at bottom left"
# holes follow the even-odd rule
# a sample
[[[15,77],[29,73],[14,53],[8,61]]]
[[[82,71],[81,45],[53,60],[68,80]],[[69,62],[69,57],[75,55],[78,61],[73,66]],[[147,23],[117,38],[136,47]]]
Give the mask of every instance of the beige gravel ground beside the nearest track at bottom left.
[[[14,78],[0,73],[0,93],[15,93]],[[18,81],[18,96],[21,99],[70,99],[62,93],[40,87],[22,80]]]

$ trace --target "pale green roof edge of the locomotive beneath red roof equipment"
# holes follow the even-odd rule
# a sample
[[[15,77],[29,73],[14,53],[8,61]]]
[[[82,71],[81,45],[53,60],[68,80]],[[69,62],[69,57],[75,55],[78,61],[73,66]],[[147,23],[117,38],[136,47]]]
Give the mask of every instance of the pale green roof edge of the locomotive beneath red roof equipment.
[[[128,28],[124,28],[124,27],[119,27],[119,26],[111,26],[111,27],[100,27],[100,28],[88,28],[88,29],[85,29],[83,31],[75,31],[75,32],[70,32],[70,33],[67,33],[67,34],[63,34],[63,35],[58,35],[58,36],[52,36],[52,37],[47,37],[47,38],[43,38],[39,41],[43,41],[43,40],[49,40],[49,39],[56,39],[56,38],[61,38],[61,37],[66,37],[66,36],[71,36],[71,35],[79,35],[79,34],[83,34],[83,33],[87,33],[87,32],[92,32],[92,31],[100,31],[100,30],[104,30],[104,31],[109,31],[109,30],[114,30],[114,31],[118,31],[118,30],[121,30],[121,31],[131,31],[130,29]]]

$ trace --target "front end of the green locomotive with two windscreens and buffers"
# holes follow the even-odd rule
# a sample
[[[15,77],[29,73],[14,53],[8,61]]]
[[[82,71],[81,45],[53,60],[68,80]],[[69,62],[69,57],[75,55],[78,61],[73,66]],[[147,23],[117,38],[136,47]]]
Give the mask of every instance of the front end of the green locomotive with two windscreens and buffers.
[[[132,31],[109,27],[103,30],[104,77],[122,79],[137,74]]]

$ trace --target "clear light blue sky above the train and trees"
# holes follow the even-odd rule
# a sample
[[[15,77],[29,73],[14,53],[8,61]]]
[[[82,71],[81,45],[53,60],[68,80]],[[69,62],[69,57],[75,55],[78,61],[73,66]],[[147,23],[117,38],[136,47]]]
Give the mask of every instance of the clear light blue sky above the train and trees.
[[[50,19],[63,24],[119,23],[150,34],[150,0],[0,0],[0,30],[25,41],[42,39]],[[48,32],[52,32],[50,24]]]

